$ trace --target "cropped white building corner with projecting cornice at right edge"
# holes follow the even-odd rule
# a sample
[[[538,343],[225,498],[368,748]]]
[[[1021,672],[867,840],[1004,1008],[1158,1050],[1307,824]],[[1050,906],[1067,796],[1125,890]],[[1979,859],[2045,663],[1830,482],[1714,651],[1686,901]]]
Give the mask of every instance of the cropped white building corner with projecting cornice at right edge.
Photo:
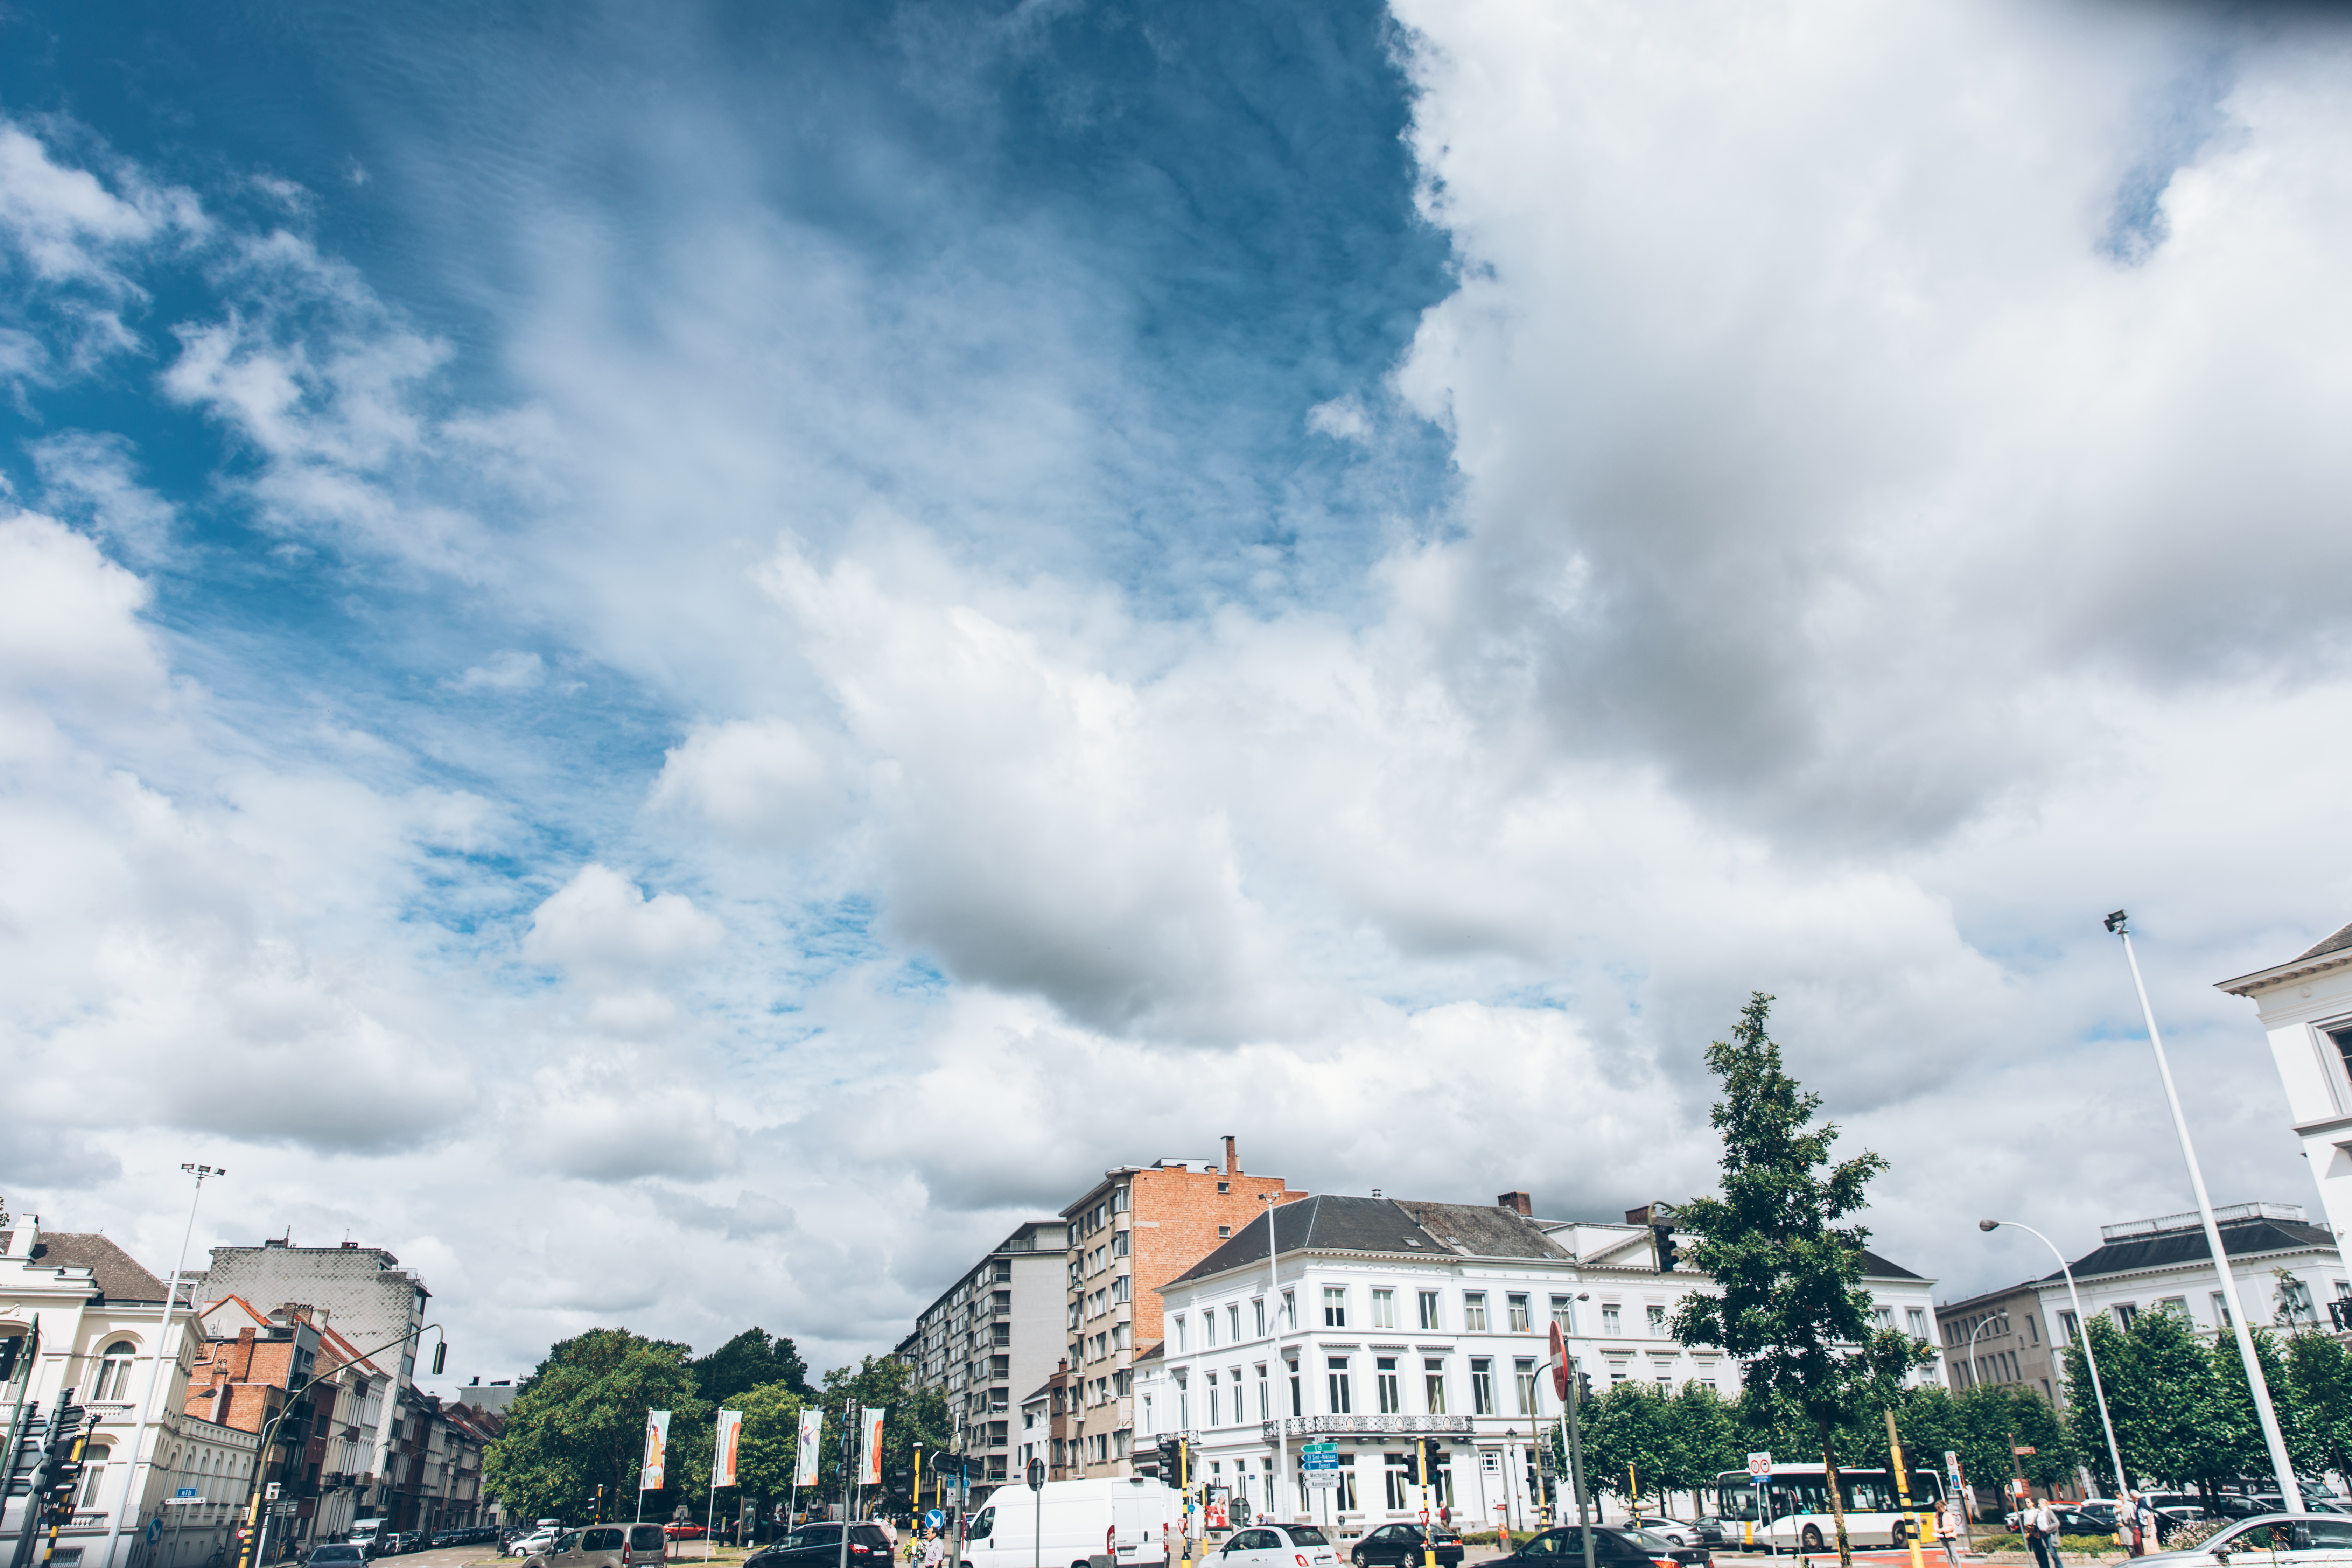
[[[2343,1241],[2352,1234],[2352,926],[2220,990],[2251,999],[2270,1030],[2286,1119],[2312,1161],[2328,1232]]]

